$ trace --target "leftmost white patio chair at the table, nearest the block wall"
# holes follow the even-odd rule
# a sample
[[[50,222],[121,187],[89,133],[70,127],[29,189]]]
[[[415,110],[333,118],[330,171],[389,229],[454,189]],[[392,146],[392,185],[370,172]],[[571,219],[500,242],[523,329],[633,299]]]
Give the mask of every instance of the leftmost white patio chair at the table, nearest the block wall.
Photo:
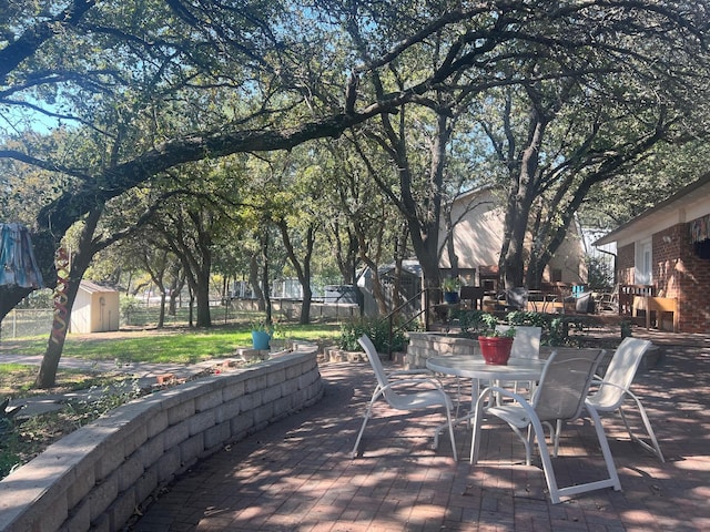
[[[422,410],[432,407],[444,407],[446,412],[446,421],[448,424],[448,434],[452,440],[452,451],[454,453],[454,460],[458,460],[456,454],[456,440],[454,439],[454,424],[452,421],[452,400],[448,395],[442,388],[440,382],[432,378],[396,378],[394,380],[389,380],[390,376],[394,375],[406,375],[406,371],[394,371],[389,374],[389,376],[385,372],[385,368],[379,360],[379,355],[375,349],[372,340],[367,336],[362,336],[358,340],[363,349],[365,349],[365,354],[367,355],[367,359],[369,360],[373,370],[375,371],[375,377],[377,378],[377,386],[375,387],[375,391],[373,392],[373,397],[369,400],[369,405],[367,405],[367,410],[365,412],[365,418],[363,419],[363,426],[359,429],[359,433],[357,434],[357,440],[355,441],[355,447],[353,447],[352,457],[357,457],[357,449],[359,447],[359,441],[363,437],[363,432],[365,431],[365,426],[367,421],[373,416],[373,406],[375,402],[383,398],[387,403],[396,409],[396,410]],[[424,385],[428,387],[428,389],[418,390],[418,391],[406,391],[406,392],[397,392],[395,388],[399,387],[412,387],[413,385]],[[438,447],[438,430],[434,432],[434,446],[436,449]]]

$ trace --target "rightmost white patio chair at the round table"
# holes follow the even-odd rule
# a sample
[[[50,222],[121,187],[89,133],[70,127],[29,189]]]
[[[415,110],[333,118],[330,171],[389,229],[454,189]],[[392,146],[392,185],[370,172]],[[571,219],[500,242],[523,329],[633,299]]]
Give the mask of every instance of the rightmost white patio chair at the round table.
[[[658,444],[656,433],[653,432],[651,421],[646,413],[646,409],[643,408],[643,405],[641,405],[640,399],[630,390],[631,382],[636,377],[641,359],[651,345],[652,344],[649,340],[632,338],[630,336],[625,338],[613,352],[604,378],[592,381],[592,385],[599,385],[599,389],[587,397],[587,403],[591,405],[598,412],[618,411],[631,440],[656,454],[661,462],[665,462],[663,453]],[[649,436],[650,443],[637,437],[631,430],[622,410],[623,402],[627,397],[633,399],[636,402],[641,420],[643,421],[643,426],[646,427],[646,431]]]

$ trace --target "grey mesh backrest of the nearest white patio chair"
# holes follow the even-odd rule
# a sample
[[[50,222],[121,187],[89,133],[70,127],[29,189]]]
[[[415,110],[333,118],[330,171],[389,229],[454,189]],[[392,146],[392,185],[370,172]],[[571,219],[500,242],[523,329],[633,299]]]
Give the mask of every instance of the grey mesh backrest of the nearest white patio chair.
[[[559,348],[548,359],[532,398],[540,421],[577,419],[604,349]]]

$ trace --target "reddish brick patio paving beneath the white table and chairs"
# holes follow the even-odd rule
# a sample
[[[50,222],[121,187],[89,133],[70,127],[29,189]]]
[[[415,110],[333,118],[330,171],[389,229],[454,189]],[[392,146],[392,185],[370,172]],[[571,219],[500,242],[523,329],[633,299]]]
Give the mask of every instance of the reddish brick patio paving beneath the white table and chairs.
[[[447,437],[430,449],[440,415],[412,417],[384,405],[365,432],[362,458],[352,460],[374,378],[364,364],[323,364],[326,396],[318,405],[196,464],[132,530],[710,530],[710,340],[635,336],[650,336],[661,348],[660,362],[637,376],[635,390],[667,462],[630,442],[617,418],[605,417],[620,492],[599,490],[551,504],[539,463],[523,464],[523,446],[507,426],[484,431],[481,462],[471,467],[465,427],[456,433],[456,463]],[[588,422],[564,431],[560,454],[558,479],[601,471]]]

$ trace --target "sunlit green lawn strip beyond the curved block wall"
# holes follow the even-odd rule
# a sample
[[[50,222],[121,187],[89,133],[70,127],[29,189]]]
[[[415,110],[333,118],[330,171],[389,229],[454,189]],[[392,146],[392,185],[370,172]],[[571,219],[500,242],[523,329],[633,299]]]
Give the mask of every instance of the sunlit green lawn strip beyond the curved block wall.
[[[334,344],[341,336],[338,324],[281,325],[276,338]],[[3,341],[2,351],[43,355],[47,336]],[[242,327],[211,329],[165,328],[116,334],[69,335],[63,357],[121,362],[191,364],[210,358],[230,357],[239,347],[250,347],[251,330]]]

